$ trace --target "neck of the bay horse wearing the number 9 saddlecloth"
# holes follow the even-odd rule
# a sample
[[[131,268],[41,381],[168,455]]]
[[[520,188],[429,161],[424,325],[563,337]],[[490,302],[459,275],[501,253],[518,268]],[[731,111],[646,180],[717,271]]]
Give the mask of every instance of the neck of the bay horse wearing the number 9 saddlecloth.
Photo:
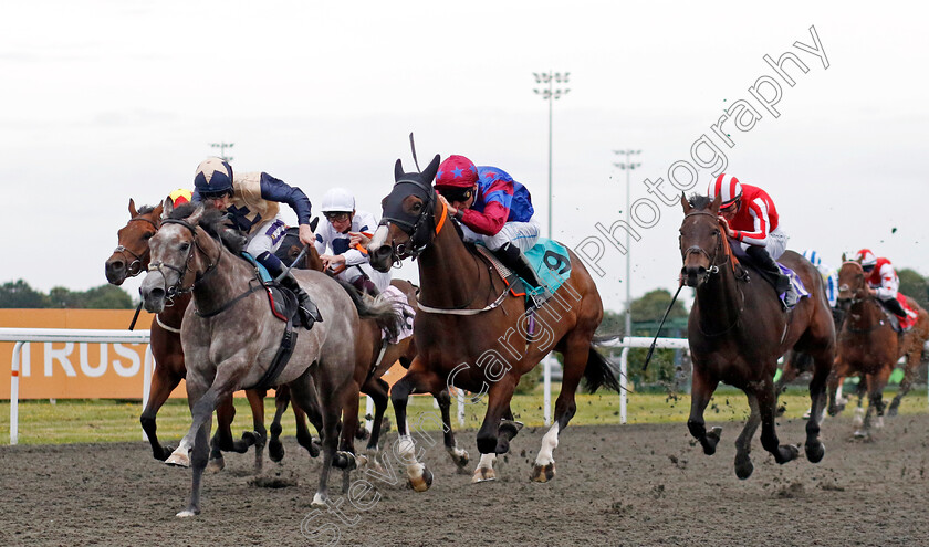
[[[488,277],[481,276],[483,261],[471,255],[450,221],[418,260],[419,302],[443,308],[487,304],[477,294],[481,280]]]

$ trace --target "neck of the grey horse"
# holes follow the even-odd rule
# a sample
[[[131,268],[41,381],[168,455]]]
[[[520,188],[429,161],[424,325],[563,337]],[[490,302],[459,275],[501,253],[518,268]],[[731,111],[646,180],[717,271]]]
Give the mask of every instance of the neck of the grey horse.
[[[252,278],[252,270],[246,261],[239,260],[201,228],[197,229],[197,238],[202,249],[197,259],[201,271],[211,264],[213,271],[203,272],[201,281],[195,283],[194,303],[200,312],[209,313],[246,291]],[[216,264],[217,261],[219,264]]]

